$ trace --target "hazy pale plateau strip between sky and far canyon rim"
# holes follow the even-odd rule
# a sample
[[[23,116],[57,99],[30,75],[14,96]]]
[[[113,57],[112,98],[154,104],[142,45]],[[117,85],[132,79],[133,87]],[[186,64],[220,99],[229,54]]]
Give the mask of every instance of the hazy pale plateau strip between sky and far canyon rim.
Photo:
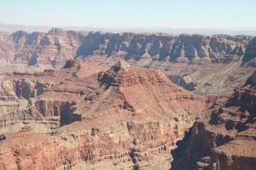
[[[0,23],[0,31],[13,33],[15,31],[43,31],[52,28],[61,28],[67,31],[102,31],[102,32],[135,32],[135,33],[167,33],[167,34],[202,34],[211,36],[214,34],[226,34],[230,36],[248,35],[256,36],[256,28],[175,28],[175,27],[93,27],[93,26],[36,26]]]

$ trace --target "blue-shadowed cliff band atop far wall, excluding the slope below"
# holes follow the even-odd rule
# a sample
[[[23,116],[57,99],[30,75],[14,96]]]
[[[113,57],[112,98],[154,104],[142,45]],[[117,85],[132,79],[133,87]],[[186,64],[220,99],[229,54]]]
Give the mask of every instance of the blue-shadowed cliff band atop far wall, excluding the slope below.
[[[230,37],[216,35],[212,37],[202,35],[144,35],[133,33],[90,33],[84,37],[79,47],[77,56],[87,56],[94,53],[111,55],[124,51],[125,59],[143,59],[143,54],[150,58],[158,56],[157,59],[164,60],[170,57],[177,61],[179,57],[186,59],[209,58],[219,60],[223,55],[245,54],[247,42],[251,37]],[[97,52],[96,52],[97,51]],[[219,60],[220,61],[220,60]]]

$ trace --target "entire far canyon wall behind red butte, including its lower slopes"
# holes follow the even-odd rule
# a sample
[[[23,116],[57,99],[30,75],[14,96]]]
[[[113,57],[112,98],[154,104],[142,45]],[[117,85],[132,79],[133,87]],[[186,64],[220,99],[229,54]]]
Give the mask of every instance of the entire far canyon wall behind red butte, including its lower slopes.
[[[197,94],[230,96],[233,88],[241,86],[255,70],[254,39],[88,33],[58,28],[47,33],[16,31],[11,36],[0,36],[0,59],[4,61],[0,71],[44,71],[60,68],[68,59],[80,58],[109,67],[125,59],[133,66],[164,71],[168,77],[183,77],[180,85]]]

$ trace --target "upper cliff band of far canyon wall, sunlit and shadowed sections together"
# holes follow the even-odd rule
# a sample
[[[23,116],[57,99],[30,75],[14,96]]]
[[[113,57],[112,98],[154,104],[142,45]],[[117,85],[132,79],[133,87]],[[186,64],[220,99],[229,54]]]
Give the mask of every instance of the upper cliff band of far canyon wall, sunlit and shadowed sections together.
[[[125,60],[159,60],[172,62],[230,62],[246,53],[249,36],[102,33],[83,35],[77,31],[53,28],[48,33],[16,31],[1,35],[1,58],[28,65],[62,66],[67,59],[91,54],[112,56],[121,53]],[[251,45],[250,45],[251,44]],[[250,43],[247,54],[253,47]],[[229,59],[225,55],[231,55]]]

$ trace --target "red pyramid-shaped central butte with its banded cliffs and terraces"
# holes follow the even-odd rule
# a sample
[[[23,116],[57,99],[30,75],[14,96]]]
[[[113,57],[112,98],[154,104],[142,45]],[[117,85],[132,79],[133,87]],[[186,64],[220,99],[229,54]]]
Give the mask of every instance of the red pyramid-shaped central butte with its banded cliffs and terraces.
[[[218,103],[216,97],[178,87],[160,71],[125,61],[106,70],[70,60],[58,71],[16,72],[6,78],[3,94],[14,96],[9,99],[18,108],[1,115],[1,130],[24,124],[32,129],[15,135],[3,131],[0,169],[75,169],[104,162],[112,169],[169,168],[176,141]],[[48,134],[40,134],[43,129]]]

